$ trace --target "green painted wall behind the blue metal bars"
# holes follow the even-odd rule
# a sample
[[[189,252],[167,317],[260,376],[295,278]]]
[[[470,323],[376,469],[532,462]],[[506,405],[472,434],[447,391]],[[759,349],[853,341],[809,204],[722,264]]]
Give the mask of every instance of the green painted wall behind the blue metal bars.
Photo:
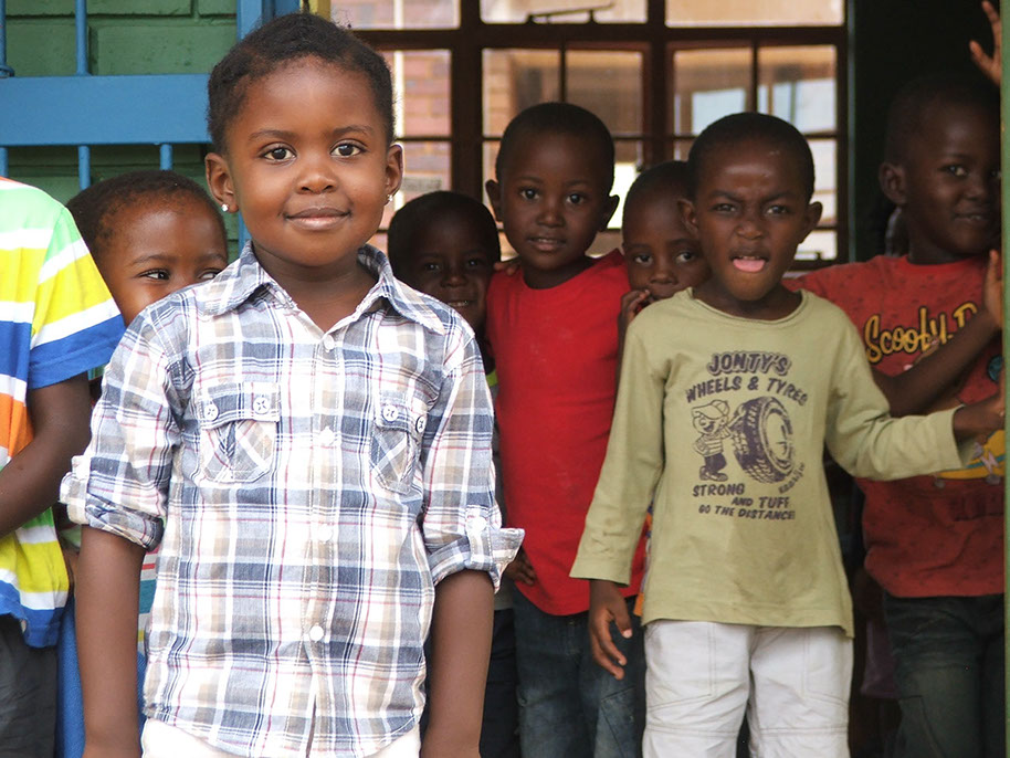
[[[8,64],[15,76],[75,73],[73,0],[8,0],[7,11]],[[235,0],[88,0],[87,11],[93,74],[207,73],[235,41]],[[173,151],[175,169],[201,183],[202,149],[180,145]],[[11,148],[9,155],[12,178],[64,202],[76,193],[76,148]],[[97,147],[92,180],[158,165],[156,146]]]

